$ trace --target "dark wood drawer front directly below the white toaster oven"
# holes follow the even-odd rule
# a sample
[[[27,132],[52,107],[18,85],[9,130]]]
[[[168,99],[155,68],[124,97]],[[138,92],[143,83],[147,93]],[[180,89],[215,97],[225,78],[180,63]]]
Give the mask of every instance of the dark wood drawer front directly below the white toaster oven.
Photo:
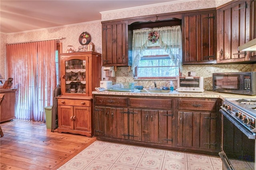
[[[216,111],[216,101],[214,100],[178,100],[178,109],[180,110],[202,110]]]

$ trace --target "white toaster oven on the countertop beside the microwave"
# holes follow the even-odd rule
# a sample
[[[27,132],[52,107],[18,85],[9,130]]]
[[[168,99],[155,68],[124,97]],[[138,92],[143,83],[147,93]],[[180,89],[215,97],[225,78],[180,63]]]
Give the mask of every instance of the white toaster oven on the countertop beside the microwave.
[[[204,77],[178,77],[178,92],[204,92]]]

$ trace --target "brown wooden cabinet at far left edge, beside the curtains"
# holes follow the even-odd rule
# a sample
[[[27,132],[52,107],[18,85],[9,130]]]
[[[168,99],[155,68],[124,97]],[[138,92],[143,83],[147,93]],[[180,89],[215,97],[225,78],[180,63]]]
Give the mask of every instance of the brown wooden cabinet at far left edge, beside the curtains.
[[[16,91],[17,89],[0,89],[0,94],[4,94],[0,105],[0,122],[15,119]]]

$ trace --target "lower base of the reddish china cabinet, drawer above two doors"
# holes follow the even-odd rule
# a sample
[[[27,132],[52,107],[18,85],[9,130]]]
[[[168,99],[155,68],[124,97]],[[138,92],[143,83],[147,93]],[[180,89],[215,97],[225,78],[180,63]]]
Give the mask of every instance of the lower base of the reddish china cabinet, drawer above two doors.
[[[58,97],[58,132],[92,137],[92,99]]]

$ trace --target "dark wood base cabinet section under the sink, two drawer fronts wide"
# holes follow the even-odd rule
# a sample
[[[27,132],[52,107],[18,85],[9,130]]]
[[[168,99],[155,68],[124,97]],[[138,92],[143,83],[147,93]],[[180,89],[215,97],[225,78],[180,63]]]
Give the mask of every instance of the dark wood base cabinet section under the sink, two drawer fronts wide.
[[[97,139],[174,146],[172,99],[94,95],[94,106]]]

